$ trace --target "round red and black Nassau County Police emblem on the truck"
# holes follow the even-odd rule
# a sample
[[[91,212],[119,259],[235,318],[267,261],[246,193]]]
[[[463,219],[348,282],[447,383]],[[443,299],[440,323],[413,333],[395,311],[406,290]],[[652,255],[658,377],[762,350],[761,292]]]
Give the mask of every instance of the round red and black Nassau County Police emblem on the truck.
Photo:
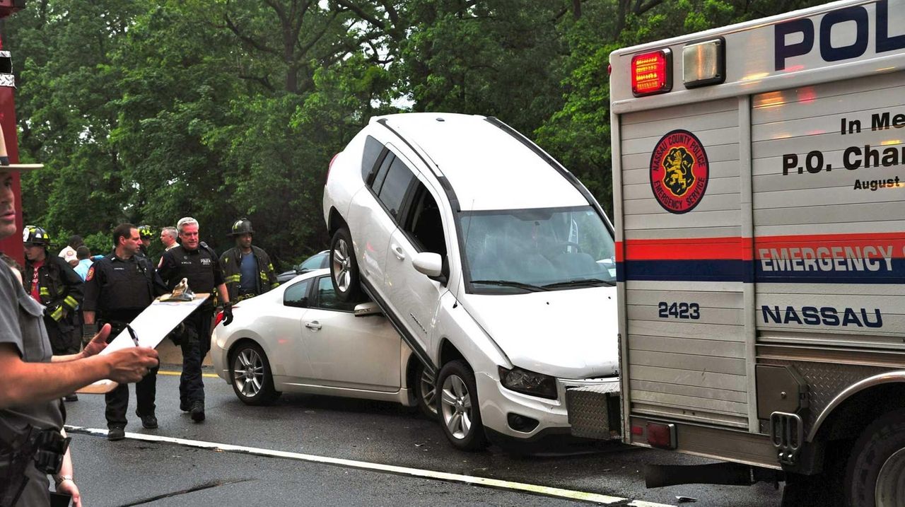
[[[700,139],[688,130],[672,130],[657,141],[651,155],[653,196],[670,213],[688,213],[707,190],[710,162]]]

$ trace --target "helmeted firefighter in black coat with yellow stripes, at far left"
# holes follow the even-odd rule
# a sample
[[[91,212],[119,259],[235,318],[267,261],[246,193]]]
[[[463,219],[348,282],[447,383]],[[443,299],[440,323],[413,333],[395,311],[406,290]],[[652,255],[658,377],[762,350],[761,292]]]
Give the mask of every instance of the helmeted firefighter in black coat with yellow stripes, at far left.
[[[47,252],[51,240],[43,228],[26,225],[23,243],[23,284],[34,301],[44,305],[44,326],[53,354],[75,354],[81,345],[76,312],[81,304],[81,276],[62,257]],[[65,399],[75,401],[78,397],[73,393]]]

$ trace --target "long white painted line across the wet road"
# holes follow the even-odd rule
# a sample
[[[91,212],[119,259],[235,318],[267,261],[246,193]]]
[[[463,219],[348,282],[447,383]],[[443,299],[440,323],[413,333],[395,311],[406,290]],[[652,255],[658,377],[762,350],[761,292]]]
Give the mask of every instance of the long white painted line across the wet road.
[[[66,431],[70,433],[83,433],[87,435],[106,436],[107,430],[100,428],[88,428],[82,426],[66,426]],[[273,451],[271,449],[260,449],[257,447],[247,447],[245,445],[217,444],[215,442],[205,442],[203,440],[187,440],[185,438],[175,438],[172,436],[147,435],[142,433],[126,433],[126,437],[132,440],[142,440],[145,442],[159,442],[164,444],[183,445],[186,447],[198,447],[201,449],[211,449],[226,453],[253,454],[258,456],[285,458],[297,461],[305,461],[309,463],[332,464],[344,466],[348,468],[357,468],[359,470],[370,470],[373,472],[383,472],[389,474],[408,475],[410,477],[422,477],[424,479],[433,479],[447,481],[451,483],[465,483],[475,486],[487,488],[495,488],[500,490],[510,490],[524,493],[539,494],[555,498],[563,498],[567,500],[576,500],[581,502],[595,502],[604,505],[618,504],[620,506],[627,505],[632,507],[668,507],[663,503],[643,502],[640,500],[629,501],[627,498],[618,496],[609,496],[600,493],[588,493],[575,490],[567,490],[562,488],[554,488],[550,486],[541,486],[539,484],[514,483],[511,481],[502,481],[500,479],[489,479],[486,477],[475,477],[472,475],[450,474],[447,472],[436,472],[433,470],[422,470],[419,468],[409,468],[407,466],[396,466],[394,464],[369,463],[367,461],[356,461],[341,458],[332,458],[329,456],[319,456],[315,454],[289,453],[286,451]]]

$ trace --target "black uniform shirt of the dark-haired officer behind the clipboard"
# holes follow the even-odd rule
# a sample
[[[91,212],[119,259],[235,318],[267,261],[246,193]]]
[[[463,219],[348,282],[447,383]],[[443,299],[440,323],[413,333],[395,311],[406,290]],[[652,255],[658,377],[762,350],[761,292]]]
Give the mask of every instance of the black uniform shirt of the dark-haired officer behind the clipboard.
[[[81,308],[97,311],[103,320],[132,320],[164,292],[167,288],[147,257],[120,259],[110,253],[88,270]]]

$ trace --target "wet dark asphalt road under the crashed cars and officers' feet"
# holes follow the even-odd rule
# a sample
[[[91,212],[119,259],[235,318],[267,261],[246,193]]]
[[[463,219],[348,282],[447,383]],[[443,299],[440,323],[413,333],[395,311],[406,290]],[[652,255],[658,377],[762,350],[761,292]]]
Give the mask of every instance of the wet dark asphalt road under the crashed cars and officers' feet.
[[[165,371],[178,371],[166,365]],[[205,373],[211,373],[205,368]],[[284,394],[272,407],[247,407],[220,378],[205,378],[203,424],[178,409],[178,377],[157,378],[160,427],[141,427],[130,398],[127,432],[314,454],[436,472],[602,493],[644,502],[739,507],[777,505],[772,484],[686,484],[648,490],[643,464],[701,464],[675,453],[627,447],[559,448],[529,457],[491,446],[462,453],[436,423],[392,403]],[[70,426],[106,429],[102,396],[67,404]],[[218,452],[132,438],[72,432],[76,478],[85,505],[586,505],[548,496],[360,470],[281,457]],[[624,504],[622,502],[618,504]],[[686,505],[689,503],[683,503]]]

